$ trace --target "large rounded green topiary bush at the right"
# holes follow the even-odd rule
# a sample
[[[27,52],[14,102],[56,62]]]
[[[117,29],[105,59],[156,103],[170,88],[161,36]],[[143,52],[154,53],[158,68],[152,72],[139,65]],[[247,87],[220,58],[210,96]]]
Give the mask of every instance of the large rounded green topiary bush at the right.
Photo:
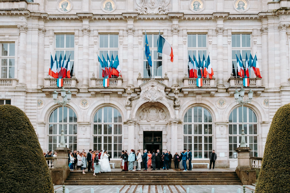
[[[275,113],[255,193],[290,192],[290,103]]]

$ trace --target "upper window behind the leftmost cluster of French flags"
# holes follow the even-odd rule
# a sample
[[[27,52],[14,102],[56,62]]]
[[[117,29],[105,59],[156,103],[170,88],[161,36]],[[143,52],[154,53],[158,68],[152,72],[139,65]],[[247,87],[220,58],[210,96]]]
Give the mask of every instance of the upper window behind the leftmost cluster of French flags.
[[[70,64],[71,64],[70,74],[72,76],[74,72],[74,67],[72,64],[74,64],[75,58],[75,35],[70,34],[55,35],[55,53],[57,56],[57,61],[59,61],[60,54],[62,58],[64,58],[64,55],[66,55],[66,61],[70,56]]]

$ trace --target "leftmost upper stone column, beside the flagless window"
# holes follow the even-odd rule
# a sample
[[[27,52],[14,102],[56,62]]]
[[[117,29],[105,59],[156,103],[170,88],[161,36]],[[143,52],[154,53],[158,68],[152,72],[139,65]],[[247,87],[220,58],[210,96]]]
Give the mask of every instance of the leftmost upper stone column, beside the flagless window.
[[[24,87],[26,86],[26,34],[27,34],[27,25],[17,25],[17,28],[20,31],[19,42],[20,42],[20,52],[19,52],[19,73],[18,80],[19,83],[17,86]]]

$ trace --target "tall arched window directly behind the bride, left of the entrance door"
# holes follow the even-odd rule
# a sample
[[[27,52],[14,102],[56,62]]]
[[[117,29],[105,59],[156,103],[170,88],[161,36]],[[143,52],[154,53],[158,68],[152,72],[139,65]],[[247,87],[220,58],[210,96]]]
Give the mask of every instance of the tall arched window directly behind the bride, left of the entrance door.
[[[94,150],[105,149],[110,158],[119,158],[122,154],[121,113],[111,106],[99,109],[94,117],[93,136]]]

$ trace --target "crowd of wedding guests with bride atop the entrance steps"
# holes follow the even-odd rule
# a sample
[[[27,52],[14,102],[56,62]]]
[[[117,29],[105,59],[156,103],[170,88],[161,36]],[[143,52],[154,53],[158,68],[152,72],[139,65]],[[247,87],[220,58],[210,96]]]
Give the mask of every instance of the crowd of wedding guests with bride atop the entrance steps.
[[[47,154],[44,153],[45,157],[56,157],[57,152],[54,152],[52,155],[52,151],[48,151]],[[143,171],[151,170],[169,170],[171,169],[171,161],[173,159],[174,169],[183,170],[186,172],[187,170],[191,171],[191,161],[192,161],[192,153],[190,149],[180,151],[180,154],[175,152],[172,156],[170,151],[165,150],[165,152],[160,152],[159,150],[152,150],[152,152],[147,150],[143,150],[143,155],[140,150],[131,149],[131,152],[128,153],[127,150],[122,150],[121,155],[121,169],[122,172],[125,171],[141,171],[141,167],[144,168]],[[213,169],[215,168],[215,160],[217,159],[217,155],[215,150],[210,154],[210,170],[211,165],[213,164]],[[186,161],[189,161],[187,166]],[[49,161],[48,161],[49,162]],[[89,150],[88,153],[85,150],[70,152],[68,155],[68,166],[70,171],[73,170],[82,170],[83,174],[85,174],[85,169],[88,168],[88,172],[91,172],[91,169],[94,171],[94,176],[96,173],[101,172],[110,172],[110,155],[107,154],[106,150]]]

